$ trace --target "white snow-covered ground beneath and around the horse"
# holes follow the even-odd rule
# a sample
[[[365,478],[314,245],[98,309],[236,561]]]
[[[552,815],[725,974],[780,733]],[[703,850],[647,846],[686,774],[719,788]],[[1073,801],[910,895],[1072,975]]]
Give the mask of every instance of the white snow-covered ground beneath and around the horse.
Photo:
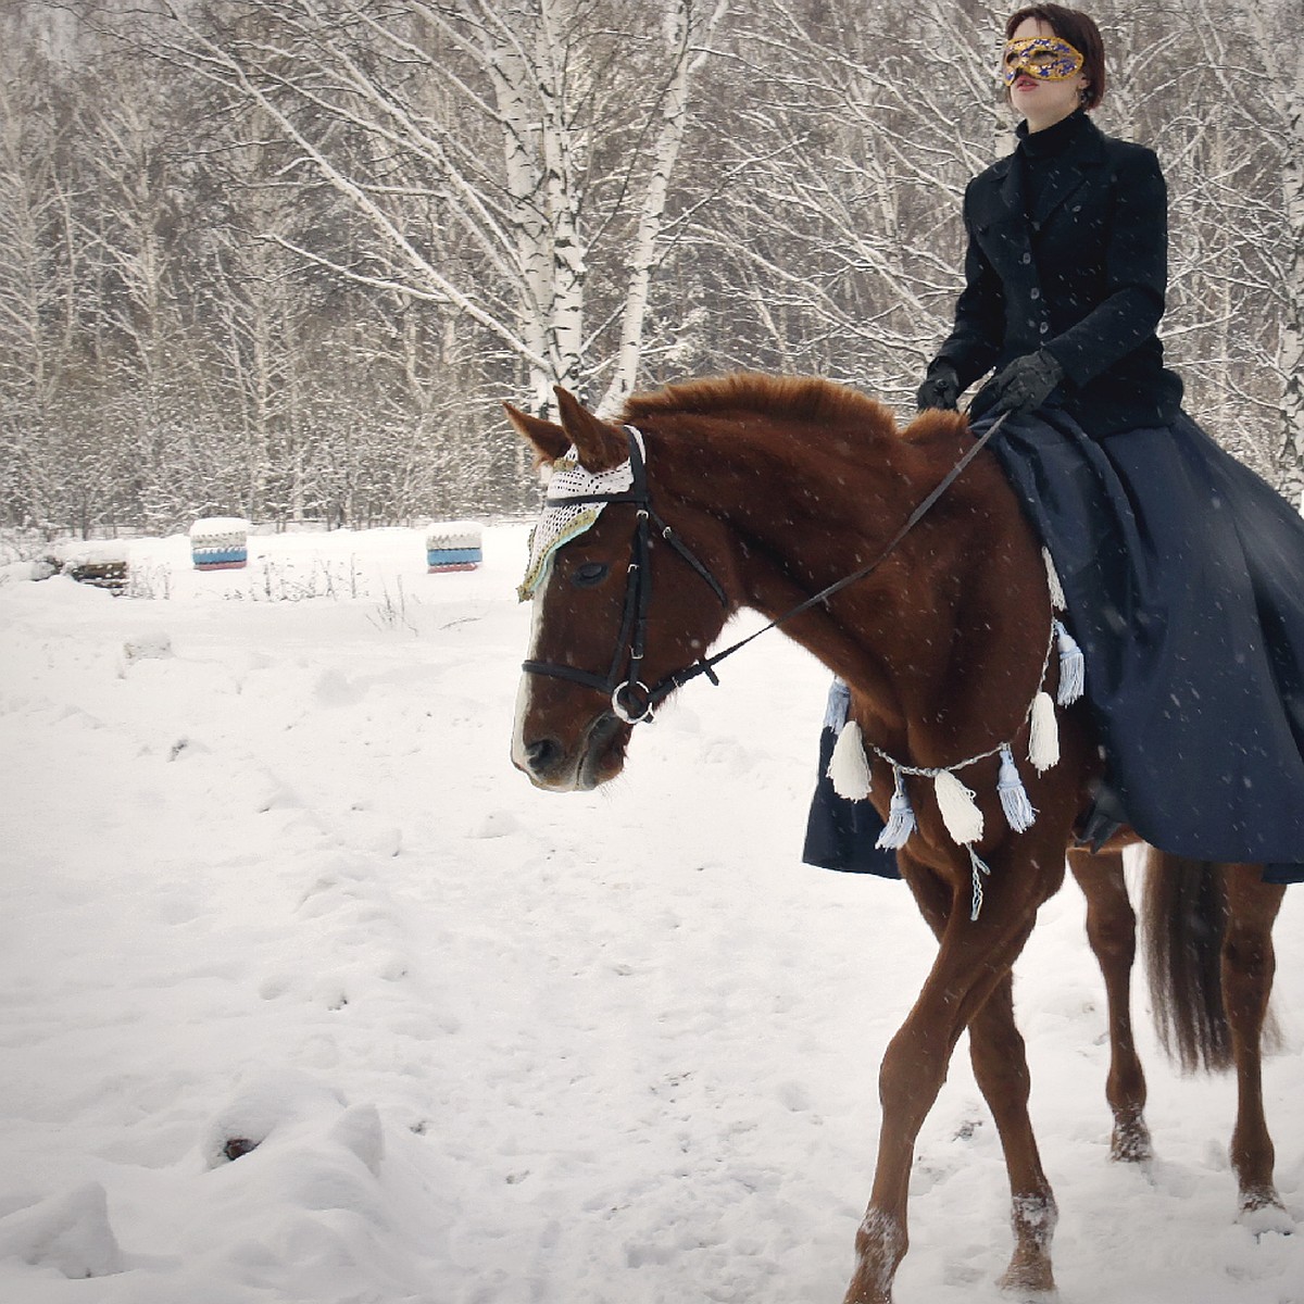
[[[446,575],[416,531],[252,544],[133,542],[153,597],[0,588],[0,1301],[840,1300],[931,940],[798,861],[823,669],[769,635],[546,795],[507,760],[523,527]],[[1304,1235],[1234,1221],[1231,1081],[1148,1029],[1159,1158],[1108,1162],[1082,914],[1018,968],[1061,1300],[1304,1301]],[[1266,1098],[1304,1219],[1301,921]],[[962,1052],[913,1191],[898,1300],[998,1300]]]

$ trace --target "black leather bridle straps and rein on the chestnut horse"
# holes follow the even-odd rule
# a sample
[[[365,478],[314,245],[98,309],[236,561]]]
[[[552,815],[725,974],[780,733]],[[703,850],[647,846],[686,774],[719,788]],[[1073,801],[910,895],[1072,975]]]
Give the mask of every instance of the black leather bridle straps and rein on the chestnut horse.
[[[781,625],[808,612],[812,606],[827,601],[835,593],[871,575],[883,565],[897,549],[906,535],[919,524],[928,514],[938,499],[956,482],[965,467],[982,451],[987,441],[1000,429],[1009,413],[1001,413],[974,442],[965,450],[964,456],[943,476],[938,486],[910,512],[906,523],[896,532],[887,546],[868,565],[859,567],[850,575],[844,575],[827,588],[811,595],[795,606],[789,608],[782,615],[775,617],[768,625],[748,634],[746,638],[732,643],[729,647],[716,652],[709,657],[698,657],[691,665],[682,670],[674,670],[665,675],[653,687],[648,687],[639,678],[639,670],[645,655],[644,638],[647,632],[647,613],[652,602],[652,571],[649,567],[652,531],[653,528],[689,567],[711,588],[720,600],[720,605],[729,609],[729,597],[720,582],[712,575],[709,567],[694,556],[689,545],[668,526],[652,507],[652,494],[647,482],[647,466],[643,458],[642,437],[632,426],[626,426],[630,441],[630,469],[632,484],[622,493],[591,494],[583,498],[567,498],[569,505],[580,503],[631,503],[636,507],[634,539],[630,544],[630,563],[626,571],[625,602],[621,614],[621,632],[615,643],[615,652],[612,657],[610,668],[605,675],[580,670],[575,666],[562,665],[557,661],[528,660],[522,662],[522,669],[527,674],[539,674],[553,679],[569,679],[572,683],[584,685],[609,696],[612,711],[618,720],[627,725],[651,722],[656,708],[661,702],[674,692],[675,689],[705,675],[712,683],[719,685],[715,668],[726,657],[745,648],[762,634],[778,629]]]

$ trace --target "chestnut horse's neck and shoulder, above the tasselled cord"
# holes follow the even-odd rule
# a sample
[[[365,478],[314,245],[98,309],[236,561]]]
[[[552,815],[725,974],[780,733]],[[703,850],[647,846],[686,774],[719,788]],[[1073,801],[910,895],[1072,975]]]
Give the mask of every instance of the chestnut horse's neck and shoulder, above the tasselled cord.
[[[878,558],[951,464],[906,445],[857,463],[745,438],[711,456],[708,510],[733,533],[743,602],[771,619]],[[975,463],[871,578],[784,629],[852,686],[880,746],[944,764],[1021,721],[1046,651],[1041,583],[1013,496]]]

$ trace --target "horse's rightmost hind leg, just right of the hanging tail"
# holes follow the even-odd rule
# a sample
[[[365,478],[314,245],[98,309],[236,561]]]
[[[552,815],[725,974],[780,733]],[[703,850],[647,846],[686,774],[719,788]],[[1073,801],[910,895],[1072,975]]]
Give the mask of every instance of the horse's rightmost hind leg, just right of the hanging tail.
[[[1264,883],[1258,865],[1224,865],[1222,872],[1227,893],[1223,1005],[1231,1030],[1237,1097],[1231,1162],[1240,1183],[1241,1213],[1281,1210],[1284,1217],[1273,1180],[1273,1138],[1264,1116],[1262,1041],[1277,968],[1273,923],[1286,889]]]

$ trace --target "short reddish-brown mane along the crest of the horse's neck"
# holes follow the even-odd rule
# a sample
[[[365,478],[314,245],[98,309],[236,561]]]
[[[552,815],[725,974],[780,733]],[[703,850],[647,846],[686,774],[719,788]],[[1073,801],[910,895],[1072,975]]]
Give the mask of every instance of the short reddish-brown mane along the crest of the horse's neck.
[[[868,428],[866,433],[871,438],[897,436],[891,409],[866,394],[814,376],[764,376],[756,372],[713,376],[632,394],[626,400],[623,420],[636,425],[642,417],[659,413],[709,416],[739,408],[793,421]]]

